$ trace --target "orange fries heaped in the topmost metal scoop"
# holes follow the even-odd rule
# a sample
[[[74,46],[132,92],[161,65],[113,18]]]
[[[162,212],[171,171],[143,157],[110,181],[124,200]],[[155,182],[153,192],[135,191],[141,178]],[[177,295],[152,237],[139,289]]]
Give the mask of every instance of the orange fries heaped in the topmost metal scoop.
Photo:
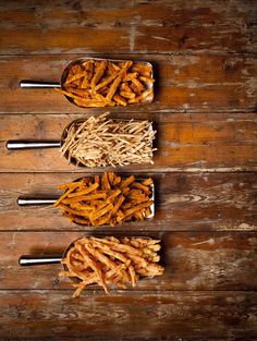
[[[73,64],[57,92],[79,107],[127,106],[152,99],[152,68],[144,62],[94,60]]]

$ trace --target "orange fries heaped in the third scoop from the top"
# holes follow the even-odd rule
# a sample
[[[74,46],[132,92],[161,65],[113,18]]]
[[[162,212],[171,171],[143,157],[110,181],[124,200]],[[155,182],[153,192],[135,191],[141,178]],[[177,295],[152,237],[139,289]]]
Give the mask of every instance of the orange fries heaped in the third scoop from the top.
[[[114,227],[124,221],[145,220],[151,215],[152,179],[121,178],[113,172],[85,176],[58,187],[65,192],[53,204],[72,222]]]

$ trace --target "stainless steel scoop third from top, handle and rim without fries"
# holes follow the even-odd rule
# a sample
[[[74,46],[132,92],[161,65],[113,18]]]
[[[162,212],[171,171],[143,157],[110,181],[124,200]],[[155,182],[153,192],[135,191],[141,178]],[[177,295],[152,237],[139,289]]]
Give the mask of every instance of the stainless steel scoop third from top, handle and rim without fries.
[[[83,178],[76,179],[75,181],[81,181]],[[144,180],[142,178],[136,179],[136,180]],[[151,196],[150,200],[154,203],[151,204],[150,208],[150,216],[148,216],[146,219],[152,219],[155,217],[155,184],[152,183],[150,185],[151,188]],[[28,197],[28,196],[20,196],[17,198],[17,205],[19,206],[41,206],[41,205],[52,205],[57,202],[58,197],[45,197],[45,198],[39,198],[39,197]],[[78,224],[78,223],[77,223]]]

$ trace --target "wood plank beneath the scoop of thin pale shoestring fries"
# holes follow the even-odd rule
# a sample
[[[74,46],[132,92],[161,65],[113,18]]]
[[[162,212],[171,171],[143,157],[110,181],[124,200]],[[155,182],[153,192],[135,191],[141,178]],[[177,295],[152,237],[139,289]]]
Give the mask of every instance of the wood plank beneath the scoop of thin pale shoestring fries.
[[[124,119],[130,114],[114,114]],[[257,121],[255,115],[231,115],[223,119],[221,114],[135,114],[134,119],[150,119],[157,129],[158,151],[155,165],[136,165],[118,168],[120,171],[233,171],[257,169]],[[50,172],[102,171],[101,168],[76,168],[69,165],[58,148],[8,150],[8,139],[59,139],[64,127],[77,118],[85,115],[0,115],[3,127],[0,134],[0,162],[2,172]],[[54,162],[52,161],[54,160]]]

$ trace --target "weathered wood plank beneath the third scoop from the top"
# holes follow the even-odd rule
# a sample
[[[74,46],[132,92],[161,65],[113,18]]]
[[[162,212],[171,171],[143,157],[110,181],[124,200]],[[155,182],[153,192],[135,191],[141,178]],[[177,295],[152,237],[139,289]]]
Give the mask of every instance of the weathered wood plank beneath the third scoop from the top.
[[[81,175],[81,174],[79,174]],[[1,231],[106,231],[71,224],[51,206],[19,207],[19,196],[58,196],[58,184],[79,178],[71,173],[2,173],[0,175]],[[138,175],[142,175],[138,173]],[[151,175],[149,173],[149,175]],[[159,173],[156,215],[147,222],[126,223],[113,231],[256,231],[256,173]]]

